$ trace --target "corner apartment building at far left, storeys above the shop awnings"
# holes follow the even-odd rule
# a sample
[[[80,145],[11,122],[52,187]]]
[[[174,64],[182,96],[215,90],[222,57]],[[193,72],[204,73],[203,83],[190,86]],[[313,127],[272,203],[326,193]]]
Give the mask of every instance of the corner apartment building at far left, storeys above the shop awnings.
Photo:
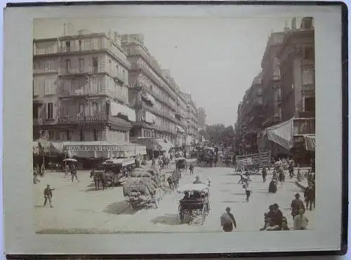
[[[34,139],[128,142],[135,111],[119,34],[34,39],[33,52]]]

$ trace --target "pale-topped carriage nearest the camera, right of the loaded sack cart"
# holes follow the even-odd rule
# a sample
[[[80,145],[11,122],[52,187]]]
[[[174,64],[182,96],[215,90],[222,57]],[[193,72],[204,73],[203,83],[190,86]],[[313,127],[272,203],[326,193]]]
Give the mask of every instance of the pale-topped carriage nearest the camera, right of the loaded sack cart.
[[[185,222],[185,217],[190,217],[188,224],[199,221],[202,225],[210,211],[209,188],[205,184],[189,184],[178,192],[184,193],[178,206],[178,219],[180,224]]]

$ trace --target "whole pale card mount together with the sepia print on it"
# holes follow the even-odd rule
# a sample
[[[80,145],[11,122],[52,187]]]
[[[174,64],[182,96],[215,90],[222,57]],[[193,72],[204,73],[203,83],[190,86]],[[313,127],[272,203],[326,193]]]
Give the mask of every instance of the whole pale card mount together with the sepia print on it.
[[[341,57],[341,20],[323,16],[340,17],[340,6],[210,7],[52,6],[27,18],[30,39],[16,43],[30,59],[26,82],[6,85],[26,119],[16,130],[8,119],[4,135],[21,147],[4,148],[8,169],[27,175],[6,177],[26,185],[26,203],[10,202],[20,200],[10,184],[4,193],[6,221],[27,216],[8,230],[37,241],[25,252],[340,245],[341,62],[327,60]],[[25,207],[8,210],[16,203]],[[89,242],[75,244],[74,234]],[[159,248],[165,239],[173,249]]]

